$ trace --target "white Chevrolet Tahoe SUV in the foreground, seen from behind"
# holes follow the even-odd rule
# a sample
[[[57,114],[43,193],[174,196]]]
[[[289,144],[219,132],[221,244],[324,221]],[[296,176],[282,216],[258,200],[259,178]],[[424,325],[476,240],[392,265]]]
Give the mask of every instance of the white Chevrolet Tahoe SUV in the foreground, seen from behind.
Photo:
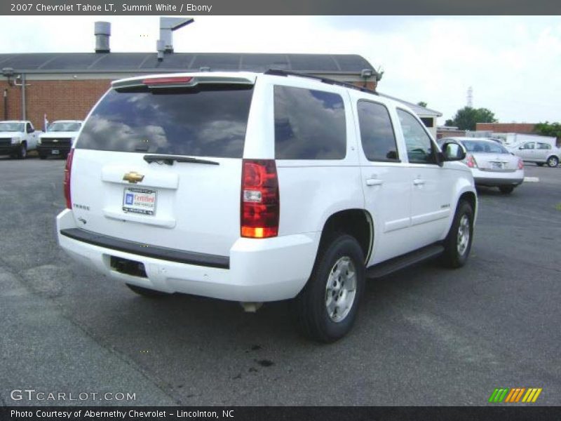
[[[473,177],[463,149],[442,151],[407,107],[335,81],[123,79],[68,156],[58,241],[142,295],[293,299],[304,333],[332,342],[365,278],[466,262]]]

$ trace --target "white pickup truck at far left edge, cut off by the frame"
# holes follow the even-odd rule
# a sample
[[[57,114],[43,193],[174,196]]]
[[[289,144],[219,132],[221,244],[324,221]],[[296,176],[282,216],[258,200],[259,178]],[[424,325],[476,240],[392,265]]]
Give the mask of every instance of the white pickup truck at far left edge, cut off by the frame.
[[[28,151],[36,149],[41,133],[29,120],[0,121],[0,155],[26,158]]]

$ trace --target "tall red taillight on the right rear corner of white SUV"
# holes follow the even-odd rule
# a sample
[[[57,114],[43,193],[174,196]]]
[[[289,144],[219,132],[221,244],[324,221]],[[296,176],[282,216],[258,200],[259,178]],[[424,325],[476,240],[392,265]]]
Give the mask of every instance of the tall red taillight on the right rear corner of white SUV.
[[[273,159],[244,159],[241,175],[241,236],[278,235],[280,199]]]

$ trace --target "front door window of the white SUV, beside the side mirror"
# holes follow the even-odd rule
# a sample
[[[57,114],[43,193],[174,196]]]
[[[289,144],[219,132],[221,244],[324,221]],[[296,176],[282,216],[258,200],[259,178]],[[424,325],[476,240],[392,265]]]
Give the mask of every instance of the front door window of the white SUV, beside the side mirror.
[[[421,123],[403,109],[398,109],[398,116],[409,161],[411,163],[435,163],[433,142]]]

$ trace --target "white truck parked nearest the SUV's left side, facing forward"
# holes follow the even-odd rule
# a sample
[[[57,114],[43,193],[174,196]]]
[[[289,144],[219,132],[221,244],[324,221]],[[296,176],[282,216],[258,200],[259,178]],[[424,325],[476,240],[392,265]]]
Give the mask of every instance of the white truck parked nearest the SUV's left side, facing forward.
[[[37,142],[39,158],[46,159],[51,155],[66,158],[81,126],[80,120],[58,120],[50,123],[46,133],[39,136]]]

